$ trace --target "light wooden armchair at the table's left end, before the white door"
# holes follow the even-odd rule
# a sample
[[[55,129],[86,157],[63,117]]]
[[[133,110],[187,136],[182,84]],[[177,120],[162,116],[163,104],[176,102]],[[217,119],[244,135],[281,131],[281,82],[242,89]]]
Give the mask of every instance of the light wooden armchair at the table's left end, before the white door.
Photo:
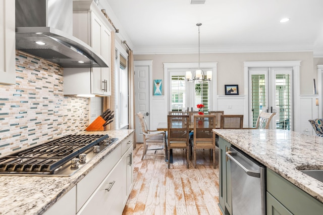
[[[166,134],[163,131],[157,131],[157,130],[149,130],[147,128],[146,120],[144,119],[144,116],[142,113],[137,113],[137,116],[139,118],[139,122],[141,124],[142,134],[143,134],[143,153],[141,160],[145,157],[145,155],[148,156],[165,156],[166,155]],[[160,148],[149,148],[148,145],[159,145]],[[164,154],[156,154],[156,150],[164,150]],[[155,153],[147,154],[147,150],[154,150]]]

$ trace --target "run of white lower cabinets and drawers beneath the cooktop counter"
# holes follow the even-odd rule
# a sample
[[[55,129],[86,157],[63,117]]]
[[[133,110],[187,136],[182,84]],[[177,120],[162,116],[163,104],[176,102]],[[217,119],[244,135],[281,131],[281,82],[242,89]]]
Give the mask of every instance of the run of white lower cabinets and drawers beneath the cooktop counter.
[[[133,141],[132,133],[44,214],[122,214],[133,186]]]

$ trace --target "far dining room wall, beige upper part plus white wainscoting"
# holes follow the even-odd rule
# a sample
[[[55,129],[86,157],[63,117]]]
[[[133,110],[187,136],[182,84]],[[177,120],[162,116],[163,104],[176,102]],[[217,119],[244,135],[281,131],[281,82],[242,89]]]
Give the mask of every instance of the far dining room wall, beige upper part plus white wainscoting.
[[[217,62],[217,91],[214,95],[217,100],[216,110],[225,111],[226,114],[244,114],[244,102],[247,95],[244,93],[244,62],[245,61],[301,61],[300,67],[300,95],[295,95],[300,99],[301,107],[299,117],[298,132],[313,134],[309,119],[318,117],[317,106],[313,95],[313,78],[317,79],[316,65],[323,59],[313,59],[311,51],[301,52],[258,52],[258,53],[204,53],[201,54],[201,62]],[[135,55],[134,60],[152,60],[152,79],[164,79],[164,63],[197,62],[197,54],[177,54],[177,55]],[[315,67],[315,70],[313,69]],[[165,83],[165,81],[164,81]],[[237,96],[225,96],[225,84],[238,84],[239,94]],[[164,89],[163,89],[164,90]],[[165,95],[165,92],[163,92]],[[167,110],[160,109],[160,103],[166,102],[165,98],[152,98],[152,126],[156,128],[158,122],[167,122]],[[314,102],[314,103],[313,103]],[[157,111],[158,110],[158,111]],[[166,114],[165,114],[166,113]],[[248,125],[244,125],[248,127]]]

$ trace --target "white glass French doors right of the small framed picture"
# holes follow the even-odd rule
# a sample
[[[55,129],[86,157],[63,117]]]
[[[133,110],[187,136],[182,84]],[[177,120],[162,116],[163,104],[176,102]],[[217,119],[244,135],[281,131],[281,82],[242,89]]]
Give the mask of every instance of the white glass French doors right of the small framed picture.
[[[268,112],[276,113],[271,129],[292,130],[292,68],[250,68],[249,92],[249,126]]]

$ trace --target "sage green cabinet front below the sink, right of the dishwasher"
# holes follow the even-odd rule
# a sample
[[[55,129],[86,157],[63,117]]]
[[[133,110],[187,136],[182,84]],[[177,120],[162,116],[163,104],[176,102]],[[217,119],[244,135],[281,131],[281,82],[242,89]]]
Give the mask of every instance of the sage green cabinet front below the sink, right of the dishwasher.
[[[267,215],[323,214],[323,203],[267,168]]]

